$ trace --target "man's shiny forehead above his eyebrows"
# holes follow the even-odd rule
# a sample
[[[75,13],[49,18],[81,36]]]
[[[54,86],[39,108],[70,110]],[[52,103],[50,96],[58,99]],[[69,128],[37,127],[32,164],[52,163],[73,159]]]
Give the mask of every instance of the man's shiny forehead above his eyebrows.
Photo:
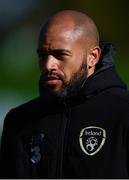
[[[65,24],[52,25],[45,31],[44,29],[40,33],[39,46],[44,45],[62,45],[69,46],[82,43],[82,31],[81,29],[75,30],[74,26],[66,26]]]

